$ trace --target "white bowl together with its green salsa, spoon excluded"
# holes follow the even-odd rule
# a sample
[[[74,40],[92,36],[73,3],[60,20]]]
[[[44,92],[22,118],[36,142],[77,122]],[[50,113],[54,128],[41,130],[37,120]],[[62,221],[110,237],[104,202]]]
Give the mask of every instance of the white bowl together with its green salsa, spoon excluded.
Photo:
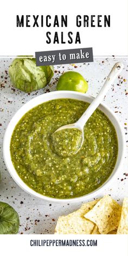
[[[82,93],[47,93],[30,100],[12,118],[4,138],[4,159],[25,191],[47,200],[78,201],[97,194],[112,180],[121,164],[123,137],[105,106],[87,121],[84,144],[76,155],[61,156],[54,149],[53,133],[77,121],[91,102]],[[68,143],[69,134],[65,139]]]

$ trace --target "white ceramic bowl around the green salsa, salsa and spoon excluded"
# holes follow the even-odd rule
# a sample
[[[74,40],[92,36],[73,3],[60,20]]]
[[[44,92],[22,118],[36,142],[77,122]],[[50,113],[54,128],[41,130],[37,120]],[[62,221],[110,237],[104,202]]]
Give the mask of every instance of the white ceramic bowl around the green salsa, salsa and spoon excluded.
[[[28,103],[24,104],[20,110],[18,110],[14,117],[12,117],[7,130],[5,131],[5,135],[4,135],[4,142],[3,142],[3,156],[4,156],[4,161],[5,164],[8,168],[8,171],[10,173],[10,175],[12,176],[12,178],[14,179],[14,181],[23,189],[25,190],[27,193],[29,193],[30,195],[36,196],[39,199],[43,199],[43,200],[47,200],[50,202],[76,202],[76,201],[83,201],[83,200],[89,200],[91,199],[91,197],[95,197],[97,196],[99,193],[101,193],[106,187],[107,185],[110,185],[110,183],[114,180],[114,178],[116,177],[116,175],[118,174],[118,172],[121,169],[121,165],[123,163],[123,156],[124,156],[124,137],[123,137],[123,131],[121,130],[121,126],[119,124],[119,121],[117,120],[117,118],[115,117],[115,115],[113,114],[113,112],[104,104],[100,104],[99,105],[99,109],[101,111],[103,111],[106,116],[111,120],[111,123],[113,124],[113,126],[116,129],[117,132],[117,137],[118,137],[118,156],[117,156],[117,162],[116,165],[112,171],[112,174],[110,175],[110,177],[108,177],[107,181],[101,185],[101,187],[99,187],[97,190],[94,190],[93,192],[84,195],[84,196],[80,196],[80,197],[75,197],[73,199],[55,199],[52,197],[48,197],[48,196],[43,196],[39,193],[37,193],[36,191],[34,191],[33,189],[29,188],[28,185],[26,185],[20,178],[20,176],[18,176],[14,165],[12,164],[11,161],[11,156],[10,156],[10,140],[11,140],[11,135],[12,132],[14,131],[14,128],[16,126],[16,124],[18,123],[18,121],[22,118],[22,116],[28,112],[31,108],[42,104],[48,100],[53,100],[53,99],[61,99],[61,98],[69,98],[69,99],[77,99],[77,100],[82,100],[82,101],[86,101],[88,103],[91,103],[93,101],[92,97],[86,96],[86,94],[84,93],[78,93],[78,92],[73,92],[73,91],[56,91],[56,92],[50,92],[50,93],[46,93],[46,94],[42,94],[30,101],[28,101]]]

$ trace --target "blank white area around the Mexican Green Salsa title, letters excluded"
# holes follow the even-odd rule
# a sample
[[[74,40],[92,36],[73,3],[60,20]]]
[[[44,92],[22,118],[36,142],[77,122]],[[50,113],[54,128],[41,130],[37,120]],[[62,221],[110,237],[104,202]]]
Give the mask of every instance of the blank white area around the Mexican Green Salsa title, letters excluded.
[[[68,15],[67,28],[17,28],[16,15]],[[111,15],[111,27],[77,28],[76,15]],[[33,24],[33,22],[31,22]],[[127,0],[7,0],[0,6],[0,55],[35,55],[36,51],[93,47],[94,55],[127,55]],[[80,32],[81,44],[47,44],[46,31]]]

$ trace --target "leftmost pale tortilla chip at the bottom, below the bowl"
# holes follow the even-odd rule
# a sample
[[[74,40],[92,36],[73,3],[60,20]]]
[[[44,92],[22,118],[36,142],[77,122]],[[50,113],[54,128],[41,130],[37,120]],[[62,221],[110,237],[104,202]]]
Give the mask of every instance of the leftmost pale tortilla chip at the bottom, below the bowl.
[[[76,212],[59,217],[55,234],[91,234],[95,224],[85,219],[84,215],[88,210],[91,210],[97,202],[98,200],[84,203]]]

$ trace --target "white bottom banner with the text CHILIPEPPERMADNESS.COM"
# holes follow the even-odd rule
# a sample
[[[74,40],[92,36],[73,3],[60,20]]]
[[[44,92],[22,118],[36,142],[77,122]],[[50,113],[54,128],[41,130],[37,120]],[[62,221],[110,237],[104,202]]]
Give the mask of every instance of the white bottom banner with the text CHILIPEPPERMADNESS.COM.
[[[7,255],[127,256],[127,235],[0,235]]]

